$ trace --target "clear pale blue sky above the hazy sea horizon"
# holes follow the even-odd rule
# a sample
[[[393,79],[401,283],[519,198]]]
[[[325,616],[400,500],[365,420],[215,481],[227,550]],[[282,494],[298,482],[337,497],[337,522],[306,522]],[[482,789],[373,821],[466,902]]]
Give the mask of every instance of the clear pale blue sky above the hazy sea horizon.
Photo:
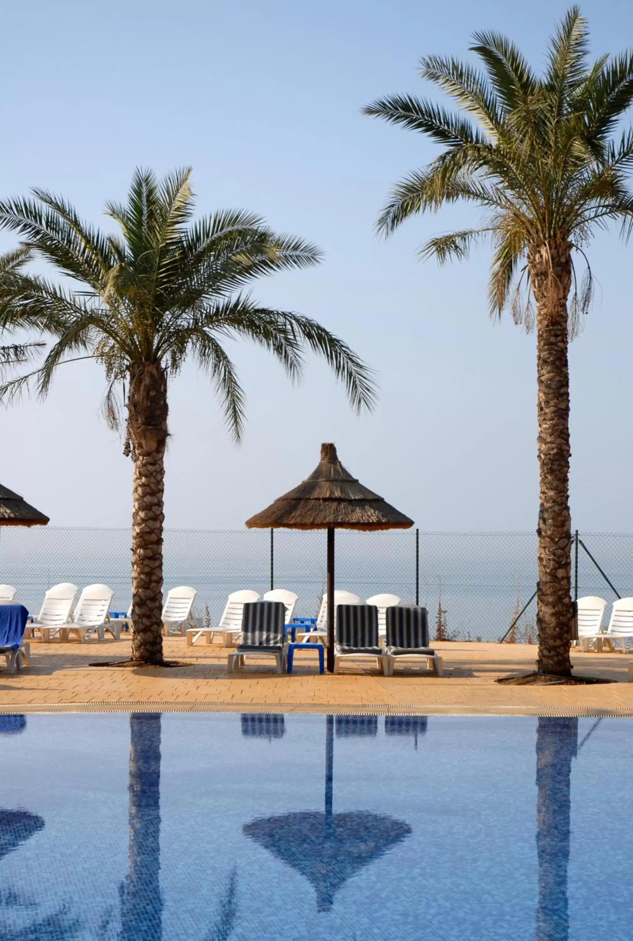
[[[137,166],[192,166],[199,212],[239,207],[324,250],[324,262],[255,285],[262,303],[318,319],[376,371],[379,402],[356,416],[322,361],[293,387],[253,346],[229,343],[247,394],[232,443],[209,379],[169,389],[166,526],[239,529],[314,469],[322,441],[423,530],[533,530],[538,510],[533,335],[487,312],[490,251],[439,268],[430,236],[463,210],[373,225],[389,187],[437,152],[360,114],[391,92],[435,95],[420,56],[467,58],[494,28],[535,67],[566,3],[487,0],[23,0],[4,10],[0,192],[38,185],[109,228]],[[592,52],[633,37],[633,8],[582,7]],[[632,40],[633,41],[633,40]],[[435,96],[436,97],[436,96]],[[468,220],[469,221],[469,220]],[[14,245],[0,233],[0,248]],[[633,531],[630,500],[633,245],[590,251],[597,290],[570,349],[573,525]],[[132,464],[101,417],[103,373],[60,370],[46,402],[0,411],[0,480],[53,525],[127,526]]]

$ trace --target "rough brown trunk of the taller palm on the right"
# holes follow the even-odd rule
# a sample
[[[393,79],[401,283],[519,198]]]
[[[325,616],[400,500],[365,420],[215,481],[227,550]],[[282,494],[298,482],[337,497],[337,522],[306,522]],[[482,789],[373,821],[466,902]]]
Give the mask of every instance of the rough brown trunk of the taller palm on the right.
[[[528,266],[536,302],[538,385],[537,666],[542,673],[569,677],[573,615],[567,295],[571,286],[571,247],[568,242],[531,247]]]

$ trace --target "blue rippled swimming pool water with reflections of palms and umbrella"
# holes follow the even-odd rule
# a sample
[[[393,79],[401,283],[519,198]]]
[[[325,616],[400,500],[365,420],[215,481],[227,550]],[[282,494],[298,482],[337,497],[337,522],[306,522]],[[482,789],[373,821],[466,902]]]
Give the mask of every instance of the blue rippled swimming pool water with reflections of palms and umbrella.
[[[625,719],[0,716],[2,941],[629,941]]]

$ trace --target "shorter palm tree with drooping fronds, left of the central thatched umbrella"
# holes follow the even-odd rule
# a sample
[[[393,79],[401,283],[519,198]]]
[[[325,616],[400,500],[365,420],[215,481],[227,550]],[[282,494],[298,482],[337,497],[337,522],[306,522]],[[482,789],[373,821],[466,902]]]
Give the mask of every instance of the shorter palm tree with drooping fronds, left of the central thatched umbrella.
[[[18,232],[24,251],[51,263],[56,284],[41,276],[0,273],[0,328],[37,328],[55,338],[40,369],[0,387],[10,400],[35,380],[45,395],[57,368],[94,359],[107,379],[104,411],[119,424],[118,390],[127,408],[126,446],[134,459],[133,662],[163,662],[164,455],[167,381],[188,357],[211,376],[234,439],[245,421],[245,396],[223,346],[245,338],[273,353],[286,373],[301,375],[302,349],[322,355],[356,410],[372,407],[371,371],[309,317],[261,307],[245,286],[260,275],[319,261],[302,239],[277,235],[244,211],[192,222],[190,170],[159,183],[136,170],[127,203],[106,204],[120,229],[104,234],[71,205],[36,189],[33,198],[0,202],[0,225]]]

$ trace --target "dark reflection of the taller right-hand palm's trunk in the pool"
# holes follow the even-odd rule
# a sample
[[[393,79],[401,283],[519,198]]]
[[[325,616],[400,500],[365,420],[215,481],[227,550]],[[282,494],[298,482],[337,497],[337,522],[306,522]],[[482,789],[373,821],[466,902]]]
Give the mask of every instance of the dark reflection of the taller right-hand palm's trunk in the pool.
[[[540,718],[536,735],[536,850],[539,897],[535,941],[567,941],[567,867],[571,767],[578,752],[578,718]]]

